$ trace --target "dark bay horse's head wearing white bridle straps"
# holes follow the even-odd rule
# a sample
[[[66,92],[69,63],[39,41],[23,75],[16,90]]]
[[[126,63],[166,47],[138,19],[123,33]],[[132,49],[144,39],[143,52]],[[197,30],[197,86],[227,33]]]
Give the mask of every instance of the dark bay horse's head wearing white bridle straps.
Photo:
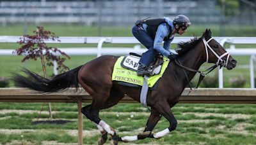
[[[206,29],[202,41],[205,47],[206,62],[218,64],[219,66],[233,69],[236,67],[236,60],[211,37],[211,30]]]

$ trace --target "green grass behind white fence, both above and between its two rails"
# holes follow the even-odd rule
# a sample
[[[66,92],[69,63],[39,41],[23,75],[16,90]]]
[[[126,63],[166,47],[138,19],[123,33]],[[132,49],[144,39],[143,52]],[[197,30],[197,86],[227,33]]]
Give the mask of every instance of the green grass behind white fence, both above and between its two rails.
[[[84,25],[75,25],[75,24],[42,24],[45,30],[52,31],[56,34],[56,36],[98,36],[98,28],[95,26],[88,27]],[[127,36],[133,37],[131,32],[131,26],[125,27],[102,27],[102,36]],[[191,25],[188,31],[182,36],[202,36],[205,29],[211,29],[212,36],[220,36],[220,27],[218,25]],[[35,31],[36,25],[28,25],[28,34],[33,34]],[[237,36],[237,37],[255,37],[256,36],[256,29],[253,26],[232,26],[226,28],[226,36]],[[0,36],[22,36],[24,35],[24,26],[23,25],[8,25],[6,27],[0,27]],[[177,35],[179,37],[179,35]],[[58,46],[60,48],[65,47],[96,47],[97,44],[58,44],[58,45],[51,45],[51,46]],[[131,47],[134,45],[116,45],[116,44],[104,44],[106,47]],[[228,45],[227,45],[228,46]],[[241,45],[237,45],[241,47]],[[243,47],[252,47],[255,45],[243,45]],[[176,45],[173,45],[172,48],[175,48]],[[18,44],[15,43],[1,43],[0,48],[19,48]]]

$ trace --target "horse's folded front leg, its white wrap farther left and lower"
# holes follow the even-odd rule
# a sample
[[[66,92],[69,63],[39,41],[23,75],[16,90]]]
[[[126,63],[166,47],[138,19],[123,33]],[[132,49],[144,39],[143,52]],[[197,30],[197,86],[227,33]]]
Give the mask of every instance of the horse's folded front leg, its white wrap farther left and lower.
[[[156,126],[157,122],[160,120],[160,118],[161,118],[161,115],[157,113],[155,109],[152,109],[143,133],[139,135],[134,135],[134,136],[119,137],[119,141],[122,141],[122,142],[138,141],[139,139],[145,139],[146,137],[152,136],[151,132]]]

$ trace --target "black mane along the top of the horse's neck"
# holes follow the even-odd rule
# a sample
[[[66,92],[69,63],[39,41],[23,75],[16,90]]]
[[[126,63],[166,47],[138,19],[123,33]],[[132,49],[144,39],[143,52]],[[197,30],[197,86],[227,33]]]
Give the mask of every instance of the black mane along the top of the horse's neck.
[[[189,52],[189,50],[195,48],[195,46],[202,41],[203,38],[211,37],[211,31],[206,29],[203,36],[201,38],[197,38],[194,36],[193,39],[191,39],[188,42],[180,42],[178,43],[178,48],[175,50],[179,55],[184,55],[185,53]]]

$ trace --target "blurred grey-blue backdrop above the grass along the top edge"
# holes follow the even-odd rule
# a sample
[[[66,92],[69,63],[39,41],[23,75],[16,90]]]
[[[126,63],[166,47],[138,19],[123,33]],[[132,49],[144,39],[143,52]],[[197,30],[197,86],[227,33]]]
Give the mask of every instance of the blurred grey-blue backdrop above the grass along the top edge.
[[[0,23],[131,25],[147,17],[188,15],[193,24],[256,25],[250,0],[0,1]]]

